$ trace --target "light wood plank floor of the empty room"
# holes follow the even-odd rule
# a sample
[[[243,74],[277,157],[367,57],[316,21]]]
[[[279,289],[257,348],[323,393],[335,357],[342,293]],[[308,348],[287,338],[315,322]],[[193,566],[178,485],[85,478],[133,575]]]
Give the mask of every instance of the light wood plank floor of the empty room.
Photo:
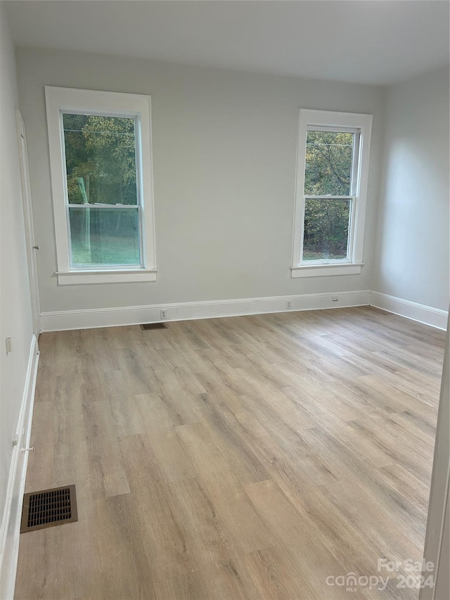
[[[364,307],[39,346],[26,491],[75,483],[79,521],[21,535],[17,600],[418,597],[326,578],[422,557],[441,331]]]

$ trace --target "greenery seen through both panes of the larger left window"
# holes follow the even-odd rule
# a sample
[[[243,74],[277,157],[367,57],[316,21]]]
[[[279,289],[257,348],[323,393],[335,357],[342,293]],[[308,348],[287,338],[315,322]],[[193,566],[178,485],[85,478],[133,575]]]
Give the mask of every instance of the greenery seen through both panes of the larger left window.
[[[63,127],[72,266],[140,265],[135,120],[65,113]]]

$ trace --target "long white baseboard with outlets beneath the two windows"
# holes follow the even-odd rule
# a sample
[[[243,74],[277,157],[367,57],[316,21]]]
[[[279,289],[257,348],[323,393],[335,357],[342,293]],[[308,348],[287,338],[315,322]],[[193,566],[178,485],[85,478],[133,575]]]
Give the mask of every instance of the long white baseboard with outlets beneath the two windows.
[[[332,300],[332,296],[338,298]],[[217,317],[238,317],[244,314],[264,314],[285,312],[286,302],[291,302],[289,310],[314,310],[351,306],[366,306],[369,303],[368,290],[304,294],[292,296],[272,296],[269,298],[240,298],[239,300],[210,300],[205,302],[181,302],[178,304],[124,306],[83,310],[63,310],[41,313],[42,331],[65,331],[68,329],[88,329],[117,325],[137,325],[155,323],[162,320],[186,321],[190,319],[213,319]],[[161,319],[161,311],[167,311],[167,319]]]

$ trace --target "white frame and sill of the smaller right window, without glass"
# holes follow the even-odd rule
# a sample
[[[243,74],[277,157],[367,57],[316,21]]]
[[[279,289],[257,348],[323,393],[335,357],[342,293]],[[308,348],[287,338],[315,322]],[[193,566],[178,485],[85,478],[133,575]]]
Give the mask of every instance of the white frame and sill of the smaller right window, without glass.
[[[297,146],[297,177],[295,182],[295,209],[293,231],[293,264],[291,277],[316,277],[323,275],[354,275],[364,267],[364,222],[366,219],[366,199],[368,167],[371,146],[372,115],[360,113],[338,113],[330,110],[300,109]],[[309,130],[358,132],[359,143],[354,146],[352,173],[349,239],[347,258],[338,260],[302,260],[304,236],[304,172],[306,167],[307,133]],[[356,159],[356,160],[355,160]],[[333,196],[324,196],[332,199]],[[337,196],[345,199],[345,196]]]

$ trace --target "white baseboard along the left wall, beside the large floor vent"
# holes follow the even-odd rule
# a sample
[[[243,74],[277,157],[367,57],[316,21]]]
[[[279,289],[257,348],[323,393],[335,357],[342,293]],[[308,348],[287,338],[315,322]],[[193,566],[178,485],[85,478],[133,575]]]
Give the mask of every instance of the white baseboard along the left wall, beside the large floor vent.
[[[14,446],[11,457],[6,505],[0,528],[1,600],[13,600],[14,596],[15,573],[19,554],[20,516],[28,462],[28,452],[23,452],[22,448],[27,448],[30,445],[38,362],[37,338],[33,335],[17,427],[18,444]]]

